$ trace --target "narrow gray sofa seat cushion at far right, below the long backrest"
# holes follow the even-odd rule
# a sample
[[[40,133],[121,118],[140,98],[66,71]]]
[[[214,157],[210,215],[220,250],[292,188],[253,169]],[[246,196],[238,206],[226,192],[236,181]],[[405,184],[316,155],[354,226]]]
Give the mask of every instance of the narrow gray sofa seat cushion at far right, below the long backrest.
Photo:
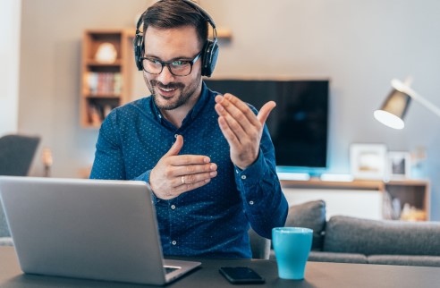
[[[438,256],[371,255],[367,260],[369,264],[440,267]]]

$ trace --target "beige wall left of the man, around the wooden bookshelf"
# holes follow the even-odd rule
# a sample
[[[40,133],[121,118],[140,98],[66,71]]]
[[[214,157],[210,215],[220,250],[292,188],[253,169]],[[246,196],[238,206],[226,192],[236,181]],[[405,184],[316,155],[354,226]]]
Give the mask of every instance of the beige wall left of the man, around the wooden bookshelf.
[[[51,148],[55,177],[78,177],[93,162],[97,130],[80,128],[83,30],[134,26],[149,2],[23,0],[19,130],[42,135],[30,174],[42,175]]]

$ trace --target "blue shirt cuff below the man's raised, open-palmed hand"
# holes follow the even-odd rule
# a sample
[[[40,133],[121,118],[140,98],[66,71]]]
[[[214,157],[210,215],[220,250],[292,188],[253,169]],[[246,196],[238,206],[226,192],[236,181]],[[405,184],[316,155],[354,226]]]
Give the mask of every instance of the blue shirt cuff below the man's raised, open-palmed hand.
[[[261,148],[259,150],[258,158],[253,164],[244,170],[241,170],[238,166],[234,165],[234,170],[236,183],[241,183],[244,187],[253,187],[257,185],[263,179],[267,170],[264,153],[261,151]]]

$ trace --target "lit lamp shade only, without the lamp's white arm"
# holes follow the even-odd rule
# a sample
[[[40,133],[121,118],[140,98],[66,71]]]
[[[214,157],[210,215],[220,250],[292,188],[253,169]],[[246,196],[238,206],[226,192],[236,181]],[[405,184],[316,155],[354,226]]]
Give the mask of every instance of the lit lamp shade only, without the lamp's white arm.
[[[385,124],[394,129],[402,129],[405,127],[403,117],[410,106],[411,97],[397,89],[393,89],[384,104],[374,113],[378,122]]]

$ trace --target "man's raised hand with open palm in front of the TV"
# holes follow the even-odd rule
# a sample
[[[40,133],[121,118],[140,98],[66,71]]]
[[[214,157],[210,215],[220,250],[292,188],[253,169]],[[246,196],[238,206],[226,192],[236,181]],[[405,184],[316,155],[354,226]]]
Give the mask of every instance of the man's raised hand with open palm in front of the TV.
[[[246,103],[232,94],[216,96],[220,129],[231,148],[233,164],[241,170],[257,160],[264,124],[275,106],[274,101],[269,101],[255,115]]]

